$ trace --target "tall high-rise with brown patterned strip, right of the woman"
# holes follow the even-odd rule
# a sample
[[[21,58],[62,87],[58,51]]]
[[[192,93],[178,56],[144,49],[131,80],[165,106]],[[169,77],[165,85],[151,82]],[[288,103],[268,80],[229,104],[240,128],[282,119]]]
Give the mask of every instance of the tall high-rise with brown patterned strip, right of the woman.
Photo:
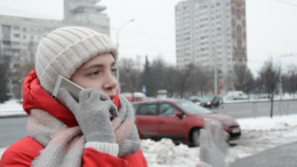
[[[245,0],[187,0],[175,6],[176,64],[217,69],[217,84],[233,90],[247,66]]]

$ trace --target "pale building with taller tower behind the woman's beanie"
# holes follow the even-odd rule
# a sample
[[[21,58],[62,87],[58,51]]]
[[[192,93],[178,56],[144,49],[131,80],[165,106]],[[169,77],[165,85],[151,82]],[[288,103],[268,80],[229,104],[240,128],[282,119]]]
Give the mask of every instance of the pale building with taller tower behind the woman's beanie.
[[[9,64],[12,98],[21,97],[23,63],[35,62],[42,38],[58,27],[83,26],[109,36],[109,18],[100,0],[64,0],[64,19],[49,20],[0,15],[0,61]]]

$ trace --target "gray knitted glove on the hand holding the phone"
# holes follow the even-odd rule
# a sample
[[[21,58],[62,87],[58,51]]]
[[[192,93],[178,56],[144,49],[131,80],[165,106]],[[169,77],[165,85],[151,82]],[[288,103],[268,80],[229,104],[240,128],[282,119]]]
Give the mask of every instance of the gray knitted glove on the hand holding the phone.
[[[116,117],[118,111],[105,93],[95,88],[84,89],[77,103],[66,89],[61,88],[59,91],[80,125],[86,142],[115,143],[109,113]]]

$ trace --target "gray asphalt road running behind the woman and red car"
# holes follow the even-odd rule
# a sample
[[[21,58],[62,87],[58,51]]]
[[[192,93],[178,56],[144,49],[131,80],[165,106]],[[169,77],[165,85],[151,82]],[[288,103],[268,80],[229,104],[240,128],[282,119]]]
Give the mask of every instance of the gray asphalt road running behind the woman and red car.
[[[297,114],[297,100],[286,101],[283,103],[285,109],[289,106],[289,114]],[[289,105],[288,105],[289,104]],[[221,114],[230,115],[233,118],[249,118],[254,117],[255,114],[259,116],[270,115],[270,103],[259,102],[256,104],[258,111],[253,112],[253,103],[238,103],[238,104],[225,104],[223,109],[213,109],[213,111]],[[274,104],[274,115],[279,115],[279,103]],[[282,114],[286,114],[283,112]],[[27,135],[26,132],[27,117],[21,118],[0,118],[0,147],[9,146],[12,143]]]

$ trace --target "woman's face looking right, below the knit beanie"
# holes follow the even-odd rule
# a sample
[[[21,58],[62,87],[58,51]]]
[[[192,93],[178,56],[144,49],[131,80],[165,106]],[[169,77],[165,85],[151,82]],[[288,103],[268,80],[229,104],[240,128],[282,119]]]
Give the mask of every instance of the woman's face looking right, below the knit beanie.
[[[118,90],[116,64],[111,53],[103,53],[80,66],[70,80],[84,88],[98,88],[114,99]]]

